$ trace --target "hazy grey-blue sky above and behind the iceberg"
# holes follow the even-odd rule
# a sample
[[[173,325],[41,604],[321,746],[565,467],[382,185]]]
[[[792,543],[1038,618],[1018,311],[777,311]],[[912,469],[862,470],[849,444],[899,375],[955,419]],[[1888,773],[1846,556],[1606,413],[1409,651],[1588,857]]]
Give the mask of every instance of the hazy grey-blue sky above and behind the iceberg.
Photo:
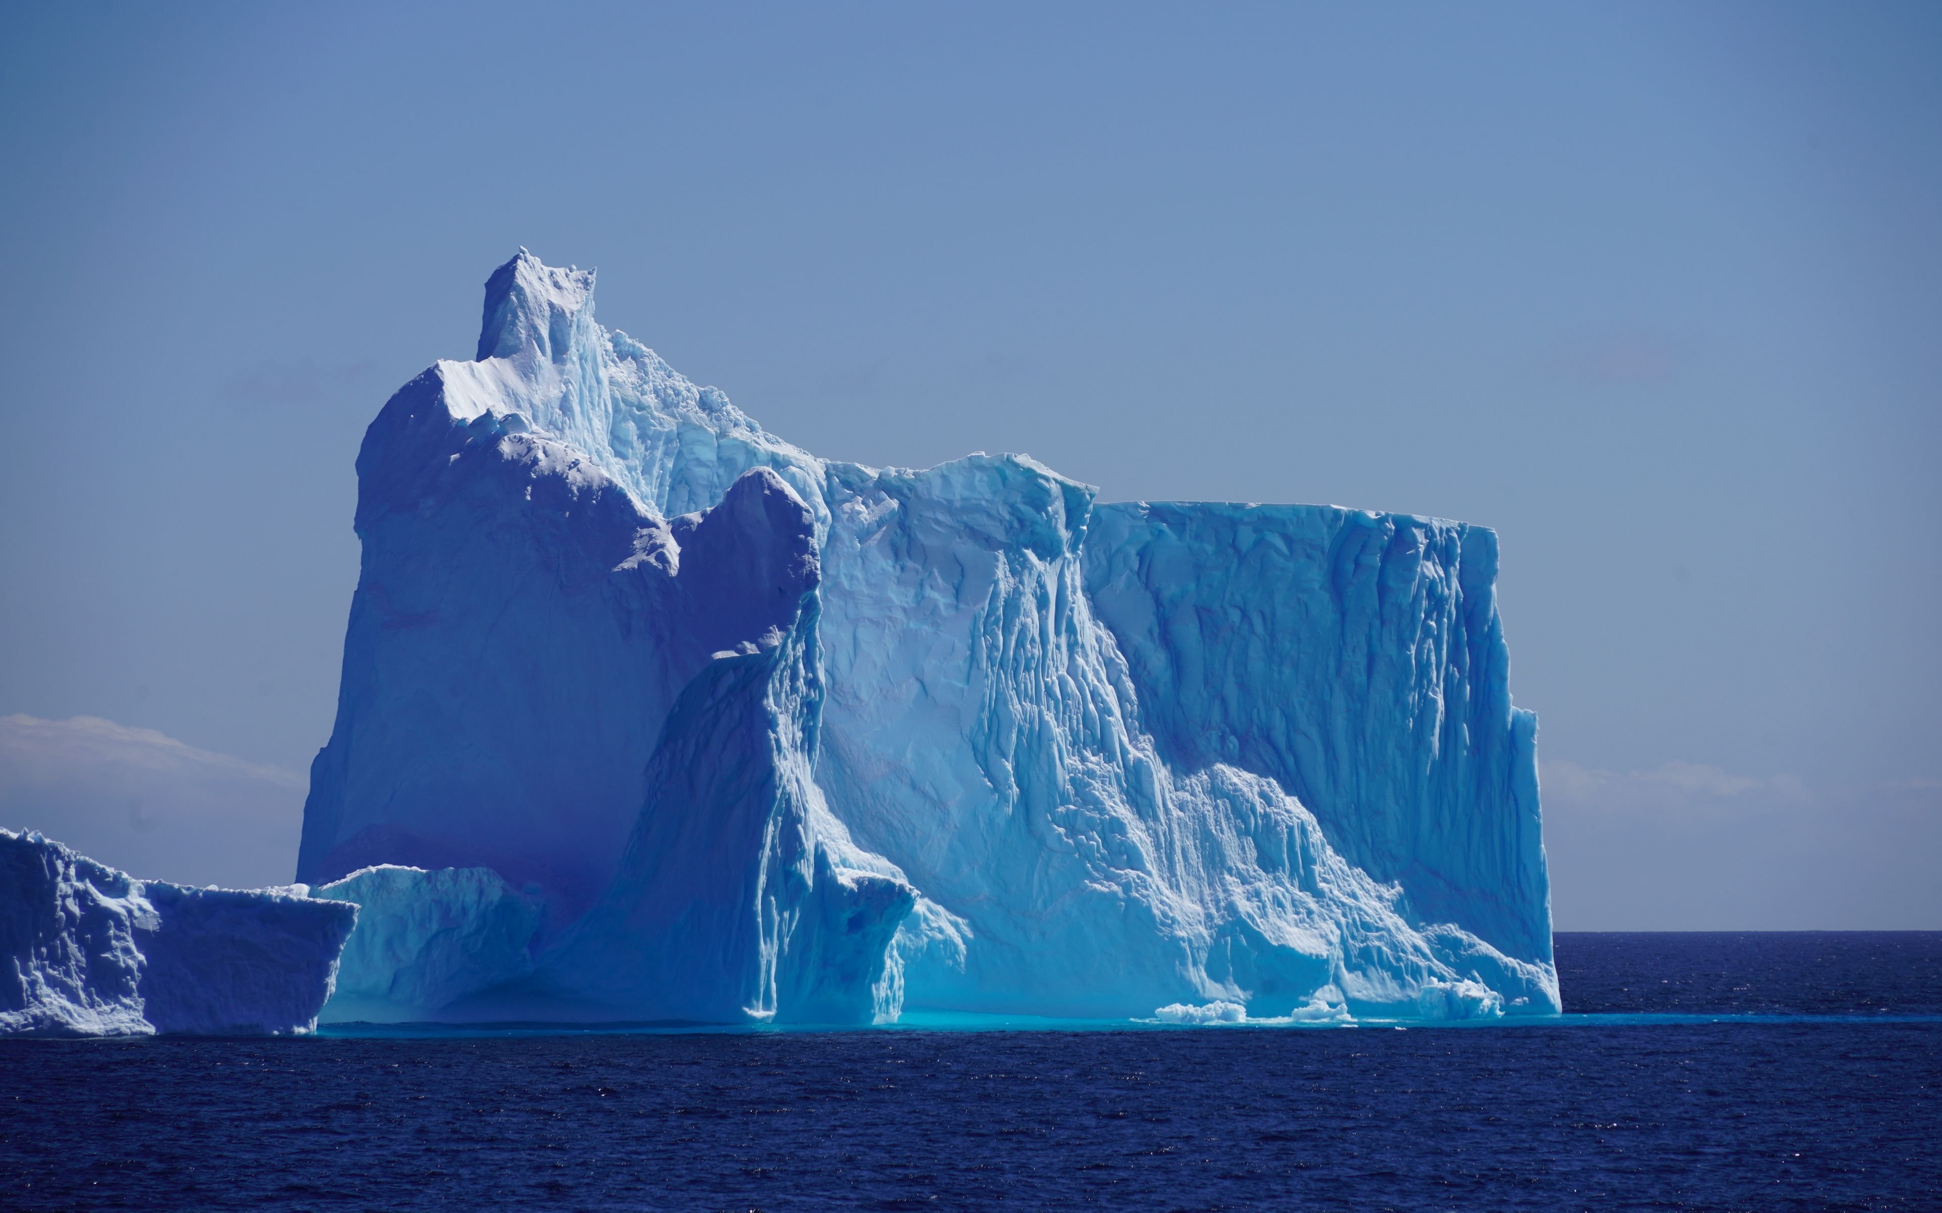
[[[287,815],[526,245],[823,456],[1490,524],[1559,928],[1942,928],[1934,4],[0,21],[0,825]]]

